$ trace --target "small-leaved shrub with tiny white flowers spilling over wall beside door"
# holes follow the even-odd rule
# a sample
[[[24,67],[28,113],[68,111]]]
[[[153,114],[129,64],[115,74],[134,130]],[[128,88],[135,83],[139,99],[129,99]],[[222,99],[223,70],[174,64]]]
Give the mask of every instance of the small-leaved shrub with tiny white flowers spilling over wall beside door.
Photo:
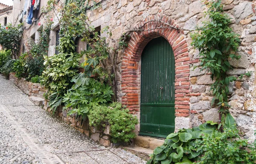
[[[94,127],[110,125],[111,139],[114,143],[119,141],[128,142],[135,138],[133,132],[138,119],[129,113],[128,109],[122,108],[121,103],[112,103],[109,106],[93,106],[90,110],[89,124]]]

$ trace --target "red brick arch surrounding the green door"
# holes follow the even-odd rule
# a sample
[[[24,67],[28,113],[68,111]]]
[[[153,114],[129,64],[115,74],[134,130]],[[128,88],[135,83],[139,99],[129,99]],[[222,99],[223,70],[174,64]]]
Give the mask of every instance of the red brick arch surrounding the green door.
[[[137,26],[137,28],[142,27],[143,32],[134,32],[125,49],[121,74],[122,104],[126,105],[134,114],[140,111],[141,54],[150,40],[162,36],[168,40],[175,55],[175,116],[187,117],[190,115],[189,63],[191,61],[186,38],[172,26],[178,28],[175,21],[168,17],[148,17]]]

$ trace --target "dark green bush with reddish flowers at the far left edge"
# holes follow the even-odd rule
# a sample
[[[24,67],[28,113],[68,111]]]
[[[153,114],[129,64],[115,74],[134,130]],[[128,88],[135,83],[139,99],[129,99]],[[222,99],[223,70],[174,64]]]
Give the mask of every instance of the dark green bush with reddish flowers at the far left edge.
[[[0,27],[0,44],[3,49],[10,49],[15,59],[20,50],[20,38],[23,32],[21,26],[22,24],[17,27],[8,24]]]

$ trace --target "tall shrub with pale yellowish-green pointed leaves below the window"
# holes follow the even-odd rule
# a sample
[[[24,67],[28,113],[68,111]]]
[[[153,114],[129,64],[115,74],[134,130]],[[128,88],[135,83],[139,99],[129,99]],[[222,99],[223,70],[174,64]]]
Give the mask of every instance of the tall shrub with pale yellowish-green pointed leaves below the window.
[[[72,78],[77,75],[80,57],[73,54],[44,56],[45,71],[41,84],[47,89],[49,106],[55,111],[63,100],[64,93],[73,86]]]

